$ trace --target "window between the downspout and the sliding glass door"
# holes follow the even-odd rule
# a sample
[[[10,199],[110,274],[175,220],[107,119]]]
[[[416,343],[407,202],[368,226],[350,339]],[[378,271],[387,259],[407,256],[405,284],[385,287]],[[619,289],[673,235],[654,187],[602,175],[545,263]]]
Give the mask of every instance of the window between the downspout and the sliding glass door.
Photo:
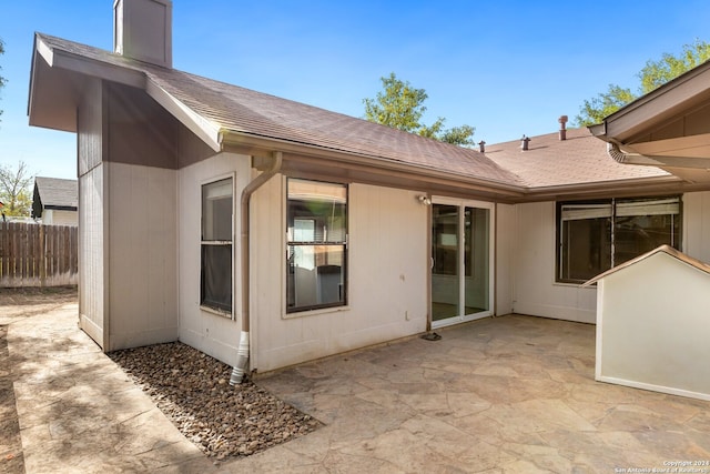
[[[346,304],[347,186],[288,179],[286,312]]]

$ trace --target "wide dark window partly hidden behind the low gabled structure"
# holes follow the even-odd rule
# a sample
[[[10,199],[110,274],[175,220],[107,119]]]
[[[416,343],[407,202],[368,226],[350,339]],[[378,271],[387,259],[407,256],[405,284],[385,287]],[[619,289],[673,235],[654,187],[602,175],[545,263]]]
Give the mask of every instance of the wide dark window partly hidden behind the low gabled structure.
[[[557,204],[559,282],[584,282],[659,245],[680,249],[680,198]]]

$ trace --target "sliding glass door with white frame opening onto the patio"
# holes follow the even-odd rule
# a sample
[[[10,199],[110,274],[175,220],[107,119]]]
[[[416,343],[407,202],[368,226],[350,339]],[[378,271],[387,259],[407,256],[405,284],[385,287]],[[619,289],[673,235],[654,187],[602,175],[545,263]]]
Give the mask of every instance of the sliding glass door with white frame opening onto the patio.
[[[432,326],[493,313],[493,204],[432,204]]]

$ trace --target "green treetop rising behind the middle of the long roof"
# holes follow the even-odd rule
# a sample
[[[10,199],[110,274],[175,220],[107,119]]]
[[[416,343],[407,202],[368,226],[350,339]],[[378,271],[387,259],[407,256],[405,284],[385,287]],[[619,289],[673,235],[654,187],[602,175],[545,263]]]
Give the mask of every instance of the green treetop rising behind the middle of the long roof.
[[[430,125],[422,123],[426,112],[423,103],[428,98],[424,89],[413,88],[408,81],[397,79],[394,72],[388,78],[379,79],[383,90],[377,92],[375,99],[363,99],[366,120],[446,143],[463,147],[474,144],[475,129],[470,125],[445,130],[446,120],[440,117]]]

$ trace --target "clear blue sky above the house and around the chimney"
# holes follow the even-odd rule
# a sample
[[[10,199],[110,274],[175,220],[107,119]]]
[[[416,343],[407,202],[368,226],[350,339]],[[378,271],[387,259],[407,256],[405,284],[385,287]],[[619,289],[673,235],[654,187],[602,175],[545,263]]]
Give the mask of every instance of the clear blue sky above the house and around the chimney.
[[[28,125],[33,32],[112,49],[113,0],[3,2],[0,164],[75,178],[75,137]],[[176,69],[353,117],[395,72],[430,123],[496,143],[555,132],[649,59],[710,41],[710,2],[173,0]]]

